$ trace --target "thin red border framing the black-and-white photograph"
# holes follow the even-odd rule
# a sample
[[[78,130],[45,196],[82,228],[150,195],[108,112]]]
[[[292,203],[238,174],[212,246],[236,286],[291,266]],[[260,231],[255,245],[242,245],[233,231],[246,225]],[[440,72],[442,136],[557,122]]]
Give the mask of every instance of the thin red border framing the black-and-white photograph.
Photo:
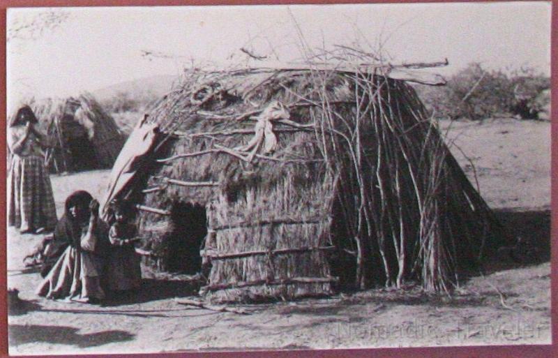
[[[444,0],[0,0],[0,62],[3,70],[0,71],[0,89],[6,93],[6,8],[8,7],[38,7],[38,6],[202,6],[202,5],[263,5],[263,4],[331,4],[331,3],[442,3],[442,2],[478,2],[478,0],[444,1]],[[558,88],[558,0],[552,3],[552,38],[551,38],[551,80],[552,88]],[[250,351],[250,352],[184,352],[152,354],[149,357],[246,357],[246,358],[333,358],[333,357],[482,357],[482,358],[539,358],[558,357],[558,91],[552,91],[552,113],[554,119],[551,124],[552,131],[552,225],[551,239],[551,290],[552,290],[552,342],[551,345],[489,345],[489,346],[459,346],[435,348],[369,348],[369,349],[342,349],[342,350],[283,350],[283,351]],[[0,137],[6,137],[6,96],[0,98]],[[6,156],[6,146],[0,146],[0,158]],[[6,161],[0,161],[0,170],[6,173]],[[8,357],[8,315],[6,310],[6,180],[0,181],[0,357]],[[144,357],[138,355],[103,355],[103,357]],[[52,356],[34,356],[52,357]],[[56,357],[74,357],[73,355]],[[93,355],[93,357],[99,357]]]

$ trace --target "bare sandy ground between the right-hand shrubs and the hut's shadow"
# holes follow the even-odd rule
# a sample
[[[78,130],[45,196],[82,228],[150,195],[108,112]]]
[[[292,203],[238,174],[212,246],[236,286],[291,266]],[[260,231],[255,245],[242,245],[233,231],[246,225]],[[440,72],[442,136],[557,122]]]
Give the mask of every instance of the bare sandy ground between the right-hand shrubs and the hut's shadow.
[[[550,208],[550,122],[442,122],[453,155],[490,207]]]

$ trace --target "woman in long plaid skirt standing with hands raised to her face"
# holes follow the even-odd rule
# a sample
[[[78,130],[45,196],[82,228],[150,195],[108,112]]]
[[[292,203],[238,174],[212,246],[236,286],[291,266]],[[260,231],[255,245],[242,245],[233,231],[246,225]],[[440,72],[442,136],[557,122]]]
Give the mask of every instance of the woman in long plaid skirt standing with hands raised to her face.
[[[8,126],[8,149],[12,154],[8,173],[8,225],[22,233],[52,230],[56,207],[41,147],[46,137],[28,105],[21,107]]]

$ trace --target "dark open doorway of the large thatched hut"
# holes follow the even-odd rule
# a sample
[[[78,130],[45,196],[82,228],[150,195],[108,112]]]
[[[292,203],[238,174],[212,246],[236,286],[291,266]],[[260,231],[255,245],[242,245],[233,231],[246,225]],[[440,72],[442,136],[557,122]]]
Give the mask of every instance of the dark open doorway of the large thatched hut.
[[[196,274],[202,268],[199,248],[207,234],[206,209],[190,202],[175,202],[171,209],[173,231],[169,240],[169,272]]]

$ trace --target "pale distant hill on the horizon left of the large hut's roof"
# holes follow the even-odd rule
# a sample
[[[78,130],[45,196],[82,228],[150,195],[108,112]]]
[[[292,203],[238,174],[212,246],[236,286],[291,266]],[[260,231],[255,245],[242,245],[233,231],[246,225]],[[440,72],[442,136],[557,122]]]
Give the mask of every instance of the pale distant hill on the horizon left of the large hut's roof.
[[[144,98],[146,95],[160,97],[172,89],[172,84],[178,80],[177,75],[155,75],[142,77],[136,80],[112,84],[102,89],[93,91],[97,100],[103,102],[114,97],[116,94],[126,93],[136,98]]]

